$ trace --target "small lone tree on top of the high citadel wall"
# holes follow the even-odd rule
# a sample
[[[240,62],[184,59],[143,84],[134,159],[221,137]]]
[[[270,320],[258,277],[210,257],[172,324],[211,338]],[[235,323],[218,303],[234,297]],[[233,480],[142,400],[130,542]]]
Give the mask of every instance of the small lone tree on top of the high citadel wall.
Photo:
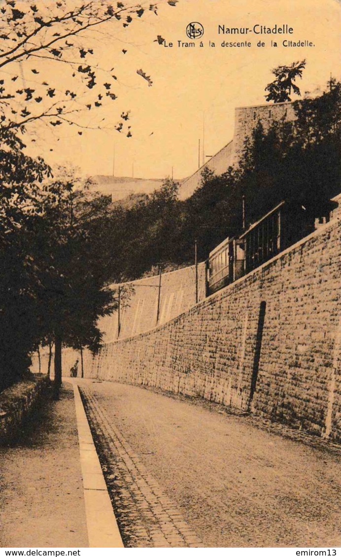
[[[268,91],[265,99],[267,102],[286,102],[291,101],[291,90],[296,95],[301,95],[299,87],[295,85],[296,77],[302,77],[305,68],[305,60],[293,62],[291,66],[278,66],[272,70],[276,79],[265,87]]]

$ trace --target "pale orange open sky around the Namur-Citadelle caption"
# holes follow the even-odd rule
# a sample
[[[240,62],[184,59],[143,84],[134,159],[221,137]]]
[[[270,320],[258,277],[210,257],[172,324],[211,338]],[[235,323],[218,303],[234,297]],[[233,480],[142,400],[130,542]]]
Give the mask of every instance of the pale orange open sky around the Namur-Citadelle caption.
[[[70,2],[72,4],[72,2]],[[200,162],[215,154],[233,137],[237,106],[265,103],[271,69],[306,59],[301,93],[324,90],[330,74],[341,79],[341,6],[337,0],[179,0],[171,7],[161,0],[158,16],[152,12],[127,30],[112,25],[103,35],[90,37],[101,66],[114,67],[118,100],[103,109],[111,128],[121,110],[130,110],[131,138],[115,129],[84,130],[69,126],[58,135],[38,131],[33,155],[48,163],[72,163],[84,175],[182,179]],[[178,47],[186,42],[190,22],[203,26],[203,47]],[[218,25],[250,27],[288,25],[291,35],[218,34]],[[160,35],[173,47],[155,42]],[[251,42],[251,47],[222,47],[222,41]],[[264,47],[257,42],[264,41]],[[277,47],[271,47],[271,40]],[[283,40],[311,41],[314,47],[284,47]],[[215,43],[215,47],[209,45]],[[122,49],[127,51],[124,55]],[[153,85],[137,74],[142,68]],[[25,72],[25,62],[23,63]],[[92,124],[92,114],[80,115]],[[47,135],[45,135],[47,134]],[[53,149],[52,151],[50,149]]]

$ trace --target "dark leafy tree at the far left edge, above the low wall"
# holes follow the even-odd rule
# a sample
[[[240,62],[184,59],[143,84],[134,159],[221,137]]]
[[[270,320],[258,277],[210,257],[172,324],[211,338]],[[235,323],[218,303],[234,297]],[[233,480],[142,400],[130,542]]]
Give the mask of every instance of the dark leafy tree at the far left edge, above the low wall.
[[[0,390],[30,365],[28,354],[43,334],[36,303],[37,268],[32,222],[41,212],[40,183],[51,175],[45,162],[23,154],[13,130],[0,146]]]

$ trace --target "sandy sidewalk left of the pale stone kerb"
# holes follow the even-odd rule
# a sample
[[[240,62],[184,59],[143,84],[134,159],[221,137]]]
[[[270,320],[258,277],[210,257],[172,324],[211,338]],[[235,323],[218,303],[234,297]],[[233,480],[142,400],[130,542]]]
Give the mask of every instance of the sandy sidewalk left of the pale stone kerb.
[[[71,384],[0,448],[0,470],[2,547],[89,546]]]

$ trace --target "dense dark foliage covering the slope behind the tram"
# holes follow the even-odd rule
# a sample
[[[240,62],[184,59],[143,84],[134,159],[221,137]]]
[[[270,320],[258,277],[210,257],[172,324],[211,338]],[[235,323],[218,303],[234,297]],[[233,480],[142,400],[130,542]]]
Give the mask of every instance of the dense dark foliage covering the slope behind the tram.
[[[102,233],[121,278],[137,278],[157,263],[193,263],[195,240],[206,259],[227,236],[242,232],[243,196],[246,226],[283,199],[296,199],[312,217],[328,212],[341,184],[340,101],[341,85],[334,83],[316,99],[294,102],[294,121],[274,121],[267,131],[259,123],[239,167],[219,176],[204,170],[186,201],[178,201],[178,185],[168,180],[152,196],[116,205]]]

